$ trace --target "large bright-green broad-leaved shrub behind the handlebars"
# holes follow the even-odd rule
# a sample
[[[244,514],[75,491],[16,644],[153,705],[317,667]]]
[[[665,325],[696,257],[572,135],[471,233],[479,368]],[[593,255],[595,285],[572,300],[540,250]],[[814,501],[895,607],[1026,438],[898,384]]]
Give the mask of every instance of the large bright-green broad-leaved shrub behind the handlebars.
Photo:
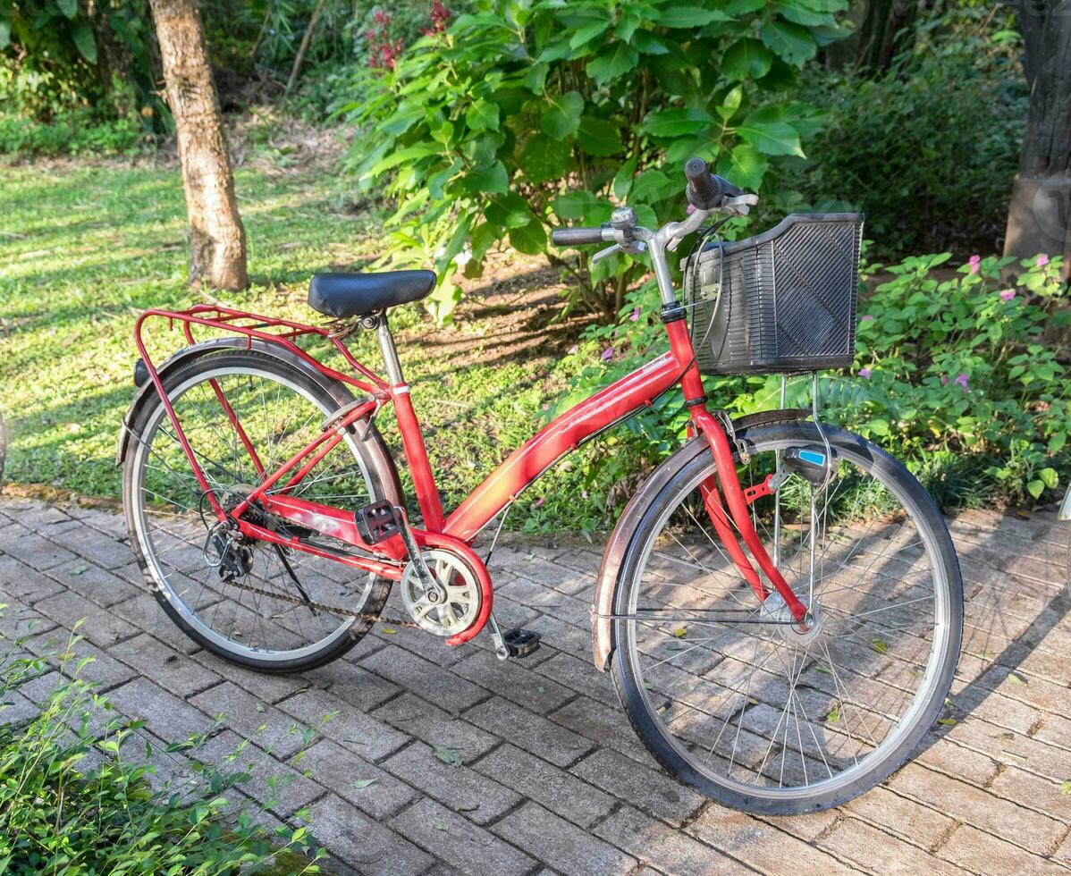
[[[841,35],[832,12],[845,7],[483,0],[342,108],[371,126],[352,150],[363,183],[398,201],[389,257],[434,259],[429,306],[444,319],[456,271],[479,276],[496,243],[546,253],[549,226],[598,225],[614,199],[648,225],[679,215],[690,155],[757,187],[771,157],[803,154],[814,114],[781,89]],[[587,253],[565,268],[573,303],[608,317],[646,270]]]

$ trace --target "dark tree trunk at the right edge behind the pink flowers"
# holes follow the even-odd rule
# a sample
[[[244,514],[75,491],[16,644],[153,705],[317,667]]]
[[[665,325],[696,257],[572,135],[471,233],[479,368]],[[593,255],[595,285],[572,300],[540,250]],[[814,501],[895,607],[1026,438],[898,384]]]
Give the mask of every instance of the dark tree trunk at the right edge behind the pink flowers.
[[[1071,0],[1020,0],[1030,110],[1008,210],[1005,255],[1064,256],[1071,274]]]

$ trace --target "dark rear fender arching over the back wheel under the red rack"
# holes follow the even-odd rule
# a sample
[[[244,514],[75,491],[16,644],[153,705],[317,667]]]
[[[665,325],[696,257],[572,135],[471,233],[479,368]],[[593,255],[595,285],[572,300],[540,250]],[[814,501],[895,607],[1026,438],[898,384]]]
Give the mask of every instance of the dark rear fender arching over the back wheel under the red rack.
[[[340,407],[345,407],[356,401],[353,398],[353,394],[344,383],[340,383],[337,380],[332,380],[330,377],[321,374],[301,359],[301,357],[295,356],[285,347],[281,347],[277,344],[271,344],[256,338],[217,337],[211,341],[203,341],[199,344],[194,344],[191,347],[184,347],[161,364],[157,368],[157,373],[161,378],[164,378],[176,368],[192,362],[198,357],[213,356],[215,353],[226,352],[229,350],[256,350],[265,356],[270,356],[282,362],[286,362],[288,365],[293,365],[296,368],[303,372],[307,377],[315,380],[332,398],[334,398],[335,402],[338,403]],[[126,458],[126,453],[130,449],[131,441],[133,440],[132,427],[137,420],[138,412],[141,407],[146,405],[155,394],[155,384],[151,380],[146,380],[145,383],[138,388],[137,393],[134,395],[134,399],[126,409],[126,413],[123,416],[122,428],[119,432],[119,443],[116,448],[117,467],[122,466]],[[362,436],[362,440],[369,441],[372,443],[372,462],[378,470],[384,492],[388,493],[388,496],[395,503],[402,502],[402,482],[398,479],[397,468],[395,468],[394,459],[388,451],[387,445],[374,423],[369,423],[369,428],[367,433]]]

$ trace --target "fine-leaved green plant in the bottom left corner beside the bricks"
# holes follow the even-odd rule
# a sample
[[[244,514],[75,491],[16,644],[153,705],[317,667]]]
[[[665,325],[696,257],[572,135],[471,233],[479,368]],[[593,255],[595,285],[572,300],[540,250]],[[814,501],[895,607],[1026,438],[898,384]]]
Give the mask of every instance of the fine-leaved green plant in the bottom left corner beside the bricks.
[[[319,872],[299,854],[311,847],[305,828],[271,835],[248,811],[228,817],[224,795],[248,781],[247,773],[194,759],[199,773],[192,783],[156,776],[163,756],[195,756],[203,737],[164,751],[144,743],[144,722],[109,716],[107,700],[79,679],[91,659],[73,655],[77,641],[60,655],[61,675],[70,680],[57,683],[22,727],[3,720],[4,711],[25,704],[19,691],[48,667],[20,656],[19,643],[0,653],[0,872],[230,876],[263,873],[273,859],[275,865],[285,860],[286,873]]]

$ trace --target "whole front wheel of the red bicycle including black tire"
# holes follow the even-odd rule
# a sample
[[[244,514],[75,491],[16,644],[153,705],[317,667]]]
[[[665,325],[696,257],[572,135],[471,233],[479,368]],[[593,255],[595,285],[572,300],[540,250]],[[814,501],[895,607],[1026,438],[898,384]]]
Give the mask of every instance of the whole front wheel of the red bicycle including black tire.
[[[931,497],[869,441],[825,434],[828,452],[811,423],[738,433],[744,487],[780,472],[752,522],[811,607],[805,629],[776,593],[760,602],[714,534],[709,449],[644,511],[614,595],[613,676],[644,743],[682,782],[767,815],[843,803],[903,764],[940,713],[963,634]]]

